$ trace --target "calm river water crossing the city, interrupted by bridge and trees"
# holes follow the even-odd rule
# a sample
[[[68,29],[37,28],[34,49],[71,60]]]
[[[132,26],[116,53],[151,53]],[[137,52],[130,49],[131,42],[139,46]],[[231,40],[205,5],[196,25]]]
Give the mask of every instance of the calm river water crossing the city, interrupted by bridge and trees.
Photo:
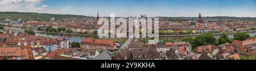
[[[256,32],[249,32],[248,34],[255,35]],[[57,38],[60,35],[57,34],[47,34],[47,33],[36,33],[36,36],[42,36],[42,37],[49,37],[49,38]],[[218,38],[220,36],[220,34],[216,34],[215,37]],[[234,38],[234,34],[228,34],[229,38]],[[85,36],[78,36],[78,35],[63,35],[64,38],[68,38],[69,42],[81,42],[82,39],[85,38],[90,38],[90,39],[95,39],[97,37],[85,37]],[[159,37],[159,39],[175,39],[175,40],[179,40],[179,39],[183,39],[186,37],[195,37],[195,36],[181,36],[181,37]]]

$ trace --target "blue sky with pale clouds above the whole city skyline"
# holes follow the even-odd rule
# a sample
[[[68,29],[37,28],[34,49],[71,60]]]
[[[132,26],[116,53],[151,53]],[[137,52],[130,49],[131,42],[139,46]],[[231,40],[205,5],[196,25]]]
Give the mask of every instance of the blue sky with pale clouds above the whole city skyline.
[[[256,0],[0,0],[0,11],[97,16],[256,17]]]

